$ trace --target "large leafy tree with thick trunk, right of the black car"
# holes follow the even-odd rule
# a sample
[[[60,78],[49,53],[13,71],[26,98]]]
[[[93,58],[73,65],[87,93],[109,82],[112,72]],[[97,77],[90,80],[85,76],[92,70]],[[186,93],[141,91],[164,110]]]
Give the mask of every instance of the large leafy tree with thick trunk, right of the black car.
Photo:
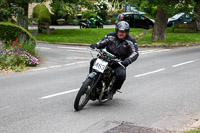
[[[166,25],[168,17],[180,12],[189,13],[194,6],[194,0],[130,0],[135,5],[147,2],[147,8],[157,7],[156,19],[152,33],[152,40],[166,40]],[[199,1],[199,0],[197,0]],[[199,9],[199,8],[198,8]]]

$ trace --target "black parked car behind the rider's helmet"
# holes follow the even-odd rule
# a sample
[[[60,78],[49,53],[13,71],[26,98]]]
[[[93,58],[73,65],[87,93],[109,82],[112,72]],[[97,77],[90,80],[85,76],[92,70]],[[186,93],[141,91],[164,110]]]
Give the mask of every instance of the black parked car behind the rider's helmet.
[[[128,22],[131,28],[150,29],[154,26],[154,20],[139,13],[122,13],[118,15],[116,24],[120,21]]]

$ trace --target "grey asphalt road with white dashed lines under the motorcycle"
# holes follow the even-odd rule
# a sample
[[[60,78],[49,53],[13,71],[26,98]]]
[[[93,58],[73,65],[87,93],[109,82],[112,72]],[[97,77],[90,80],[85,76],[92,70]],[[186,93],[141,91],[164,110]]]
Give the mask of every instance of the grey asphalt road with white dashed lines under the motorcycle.
[[[120,124],[177,131],[200,118],[200,47],[140,49],[123,93],[105,104],[89,102],[80,112],[73,104],[88,74],[87,48],[37,49],[38,67],[0,74],[1,133],[102,133]]]

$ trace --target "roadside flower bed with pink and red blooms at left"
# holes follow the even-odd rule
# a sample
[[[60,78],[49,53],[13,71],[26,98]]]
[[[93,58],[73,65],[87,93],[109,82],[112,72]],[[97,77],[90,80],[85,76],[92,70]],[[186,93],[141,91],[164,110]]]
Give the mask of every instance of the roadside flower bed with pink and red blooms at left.
[[[22,71],[25,66],[38,64],[38,59],[35,57],[37,53],[32,41],[0,42],[0,70],[11,68],[15,71]]]

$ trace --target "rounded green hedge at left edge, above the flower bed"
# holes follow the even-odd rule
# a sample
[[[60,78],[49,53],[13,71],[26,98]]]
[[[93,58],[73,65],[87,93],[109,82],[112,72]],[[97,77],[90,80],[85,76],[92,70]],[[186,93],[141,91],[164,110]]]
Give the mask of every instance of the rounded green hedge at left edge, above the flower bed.
[[[0,40],[15,41],[16,39],[31,40],[36,45],[36,39],[26,29],[8,22],[0,22]]]

